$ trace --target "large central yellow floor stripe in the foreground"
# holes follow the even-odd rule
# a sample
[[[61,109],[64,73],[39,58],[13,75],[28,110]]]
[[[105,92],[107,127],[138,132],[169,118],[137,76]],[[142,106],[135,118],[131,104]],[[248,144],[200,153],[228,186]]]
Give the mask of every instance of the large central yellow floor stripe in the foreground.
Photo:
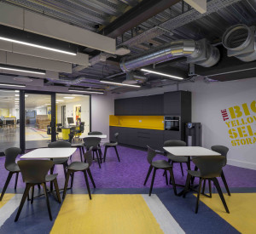
[[[55,233],[144,234],[163,233],[141,195],[86,194],[65,198]]]

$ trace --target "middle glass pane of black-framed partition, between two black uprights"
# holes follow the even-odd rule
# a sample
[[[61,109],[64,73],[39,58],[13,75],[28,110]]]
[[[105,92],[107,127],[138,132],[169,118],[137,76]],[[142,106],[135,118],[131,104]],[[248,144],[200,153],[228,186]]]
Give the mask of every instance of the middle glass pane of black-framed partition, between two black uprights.
[[[52,137],[52,134],[56,134],[53,133],[52,95],[55,94],[25,94],[26,149],[47,147],[55,138]]]

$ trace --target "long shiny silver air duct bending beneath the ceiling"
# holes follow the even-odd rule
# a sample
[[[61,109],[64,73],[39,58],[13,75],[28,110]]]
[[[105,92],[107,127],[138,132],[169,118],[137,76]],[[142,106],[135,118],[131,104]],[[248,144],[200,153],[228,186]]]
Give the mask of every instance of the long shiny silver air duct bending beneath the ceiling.
[[[174,41],[155,49],[150,49],[143,54],[125,57],[120,61],[120,68],[123,71],[132,71],[139,67],[173,60],[178,57],[187,57],[188,63],[209,67],[218,63],[219,51],[208,43],[206,39],[200,41]]]

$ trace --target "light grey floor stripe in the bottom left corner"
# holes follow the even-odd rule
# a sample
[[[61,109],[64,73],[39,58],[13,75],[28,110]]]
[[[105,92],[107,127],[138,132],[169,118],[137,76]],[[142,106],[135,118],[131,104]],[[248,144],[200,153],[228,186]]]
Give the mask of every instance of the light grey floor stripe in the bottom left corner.
[[[15,212],[15,209],[20,206],[21,197],[22,197],[22,194],[15,194],[15,196],[12,197],[9,200],[9,202],[3,205],[3,207],[0,209],[0,226],[2,226],[3,223],[7,219],[9,219],[11,214]]]

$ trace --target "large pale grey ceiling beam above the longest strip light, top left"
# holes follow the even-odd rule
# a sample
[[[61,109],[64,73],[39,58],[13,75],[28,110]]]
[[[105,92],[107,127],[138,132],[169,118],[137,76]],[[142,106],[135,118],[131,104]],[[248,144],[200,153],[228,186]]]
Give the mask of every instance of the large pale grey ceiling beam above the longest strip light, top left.
[[[7,3],[0,3],[0,24],[115,54],[116,46],[113,38],[71,26]]]

